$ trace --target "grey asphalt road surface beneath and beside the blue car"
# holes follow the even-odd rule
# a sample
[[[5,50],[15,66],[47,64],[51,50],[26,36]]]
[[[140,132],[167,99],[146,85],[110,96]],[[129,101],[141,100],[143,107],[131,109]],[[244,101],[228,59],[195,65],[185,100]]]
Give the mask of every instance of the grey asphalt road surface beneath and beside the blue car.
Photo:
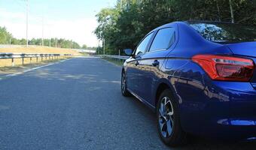
[[[154,113],[120,93],[120,67],[73,58],[0,80],[0,149],[170,149]],[[254,149],[202,138],[173,149]]]

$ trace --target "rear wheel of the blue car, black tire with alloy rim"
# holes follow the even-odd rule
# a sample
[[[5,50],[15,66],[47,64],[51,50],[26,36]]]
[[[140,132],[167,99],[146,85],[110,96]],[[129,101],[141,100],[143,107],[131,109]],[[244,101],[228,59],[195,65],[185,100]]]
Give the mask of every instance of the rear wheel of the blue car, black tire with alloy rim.
[[[162,92],[157,103],[157,130],[166,145],[175,147],[187,142],[187,134],[181,128],[178,104],[170,89]]]

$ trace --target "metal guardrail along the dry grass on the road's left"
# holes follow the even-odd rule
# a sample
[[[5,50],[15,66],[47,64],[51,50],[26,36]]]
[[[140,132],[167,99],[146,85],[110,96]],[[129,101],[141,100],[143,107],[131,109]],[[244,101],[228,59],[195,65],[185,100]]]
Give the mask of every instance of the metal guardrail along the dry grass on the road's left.
[[[72,54],[29,54],[29,53],[8,53],[8,52],[0,52],[0,59],[11,59],[11,64],[14,66],[14,58],[22,58],[22,65],[24,65],[24,58],[30,58],[30,62],[32,58],[36,58],[36,62],[38,62],[38,58],[41,58],[41,62],[43,58],[61,58],[66,56],[72,56]]]

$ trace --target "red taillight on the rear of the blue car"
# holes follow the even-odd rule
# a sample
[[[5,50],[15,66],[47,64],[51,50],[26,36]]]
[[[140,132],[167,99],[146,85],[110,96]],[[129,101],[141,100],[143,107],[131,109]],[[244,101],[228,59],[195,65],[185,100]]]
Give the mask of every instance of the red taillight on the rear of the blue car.
[[[248,58],[221,55],[194,55],[197,62],[212,80],[249,81],[254,72],[254,62]]]

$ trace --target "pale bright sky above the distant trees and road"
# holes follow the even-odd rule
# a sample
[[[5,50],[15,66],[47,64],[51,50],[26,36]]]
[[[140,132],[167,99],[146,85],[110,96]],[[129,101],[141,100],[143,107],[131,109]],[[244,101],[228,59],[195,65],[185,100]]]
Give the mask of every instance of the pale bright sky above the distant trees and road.
[[[96,37],[91,34],[96,28],[95,15],[115,3],[116,0],[29,0],[29,38],[42,36],[43,16],[45,37],[64,37],[96,46]],[[25,26],[25,12],[25,0],[0,0],[0,26],[7,27],[14,37],[25,37],[20,31]]]

